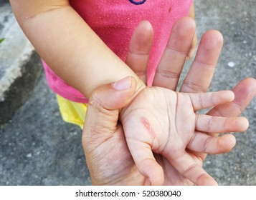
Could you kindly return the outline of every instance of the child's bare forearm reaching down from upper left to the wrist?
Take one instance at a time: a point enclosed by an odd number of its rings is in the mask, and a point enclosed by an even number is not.
[[[42,59],[75,89],[93,89],[133,76],[137,90],[145,85],[115,56],[67,0],[11,0],[22,30]]]

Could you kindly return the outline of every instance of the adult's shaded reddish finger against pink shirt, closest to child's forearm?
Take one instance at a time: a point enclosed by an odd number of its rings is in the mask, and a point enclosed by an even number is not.
[[[126,64],[146,84],[146,69],[153,44],[153,27],[148,21],[141,21],[133,31]]]

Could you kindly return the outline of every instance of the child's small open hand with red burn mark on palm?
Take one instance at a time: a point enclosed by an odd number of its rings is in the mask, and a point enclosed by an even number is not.
[[[163,184],[166,178],[161,166],[173,166],[197,185],[217,184],[186,148],[207,154],[232,149],[235,144],[233,136],[227,135],[229,139],[225,138],[225,143],[219,144],[221,137],[210,137],[202,132],[245,131],[247,119],[214,117],[195,112],[233,99],[232,91],[183,94],[159,87],[143,89],[120,114],[125,139],[138,171],[154,185]],[[161,154],[169,164],[160,166],[158,163],[161,161],[156,162],[153,153]]]

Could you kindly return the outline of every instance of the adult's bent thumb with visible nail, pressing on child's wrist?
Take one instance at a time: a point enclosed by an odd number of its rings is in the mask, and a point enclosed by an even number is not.
[[[90,137],[96,143],[118,129],[120,109],[127,106],[136,91],[136,80],[128,76],[112,84],[99,86],[90,96],[83,139]]]

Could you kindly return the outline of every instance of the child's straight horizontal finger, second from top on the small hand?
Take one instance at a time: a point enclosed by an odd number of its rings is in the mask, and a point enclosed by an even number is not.
[[[222,117],[196,114],[196,131],[207,133],[243,132],[249,122],[245,117]]]

